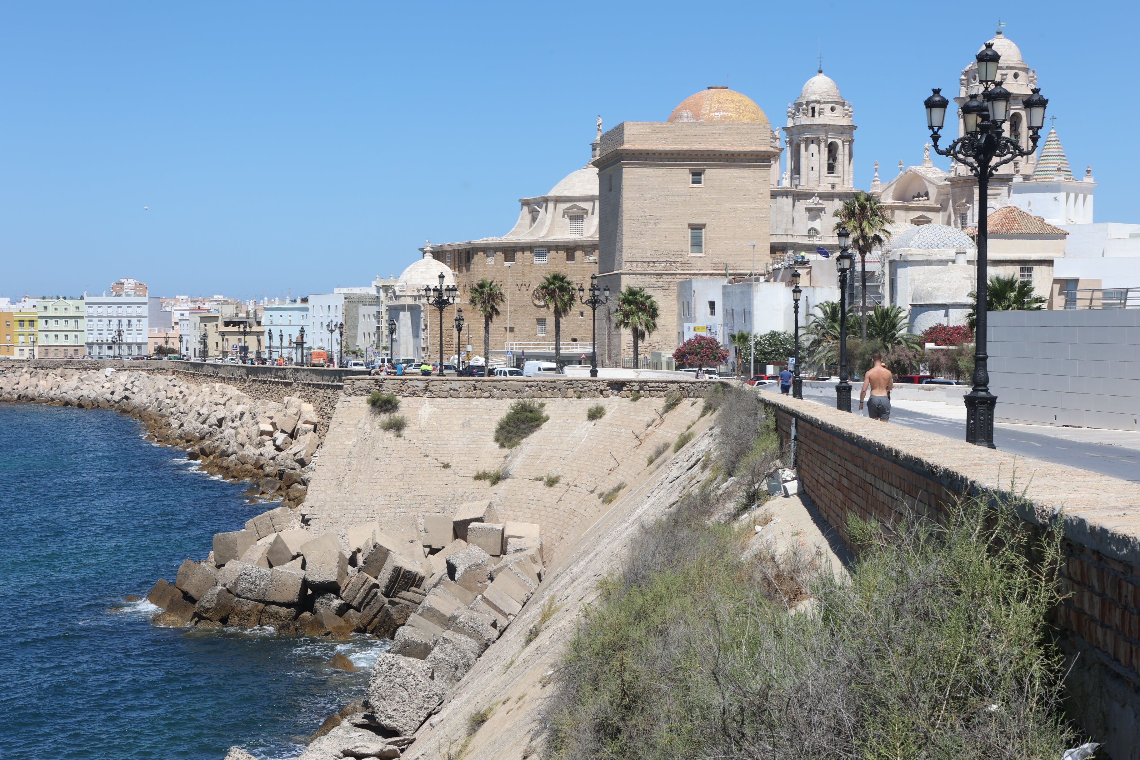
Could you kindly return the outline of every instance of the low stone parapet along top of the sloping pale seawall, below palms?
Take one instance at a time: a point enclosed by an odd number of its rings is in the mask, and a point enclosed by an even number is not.
[[[520,377],[350,377],[345,395],[368,395],[373,391],[400,398],[437,399],[628,399],[634,393],[659,399],[678,391],[686,399],[705,398],[707,381],[624,381],[601,378],[551,379]]]

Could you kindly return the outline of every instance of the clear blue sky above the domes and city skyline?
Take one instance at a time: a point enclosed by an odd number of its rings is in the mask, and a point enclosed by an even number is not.
[[[1138,16],[1109,2],[7,2],[0,295],[120,277],[163,295],[363,285],[425,238],[507,231],[519,197],[585,164],[597,115],[661,121],[727,82],[782,125],[817,43],[855,108],[865,188],[873,161],[888,180],[921,160],[922,99],[953,91],[999,17],[1074,172],[1092,164],[1097,221],[1140,222]]]

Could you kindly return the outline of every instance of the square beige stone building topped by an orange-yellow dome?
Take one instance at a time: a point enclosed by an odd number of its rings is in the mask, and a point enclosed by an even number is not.
[[[600,361],[620,366],[632,352],[613,320],[625,286],[644,287],[660,308],[642,350],[671,353],[679,280],[763,268],[779,156],[764,112],[725,87],[686,98],[666,122],[622,122],[602,136],[597,279],[611,295],[597,311]]]

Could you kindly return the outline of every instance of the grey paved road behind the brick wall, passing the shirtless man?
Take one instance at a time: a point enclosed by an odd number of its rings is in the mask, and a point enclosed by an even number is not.
[[[762,392],[779,391],[764,389]],[[852,409],[855,414],[865,415],[865,411],[858,411],[857,386],[853,395]],[[826,397],[811,398],[805,394],[805,399],[824,406],[834,404],[834,400]],[[966,436],[966,407],[929,401],[895,401],[887,424],[917,427],[961,441]],[[1140,433],[999,423],[994,426],[994,443],[1010,453],[1140,482]]]

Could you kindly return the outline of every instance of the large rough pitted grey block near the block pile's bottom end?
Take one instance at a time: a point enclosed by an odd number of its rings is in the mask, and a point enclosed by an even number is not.
[[[422,660],[384,652],[376,656],[368,680],[368,704],[376,722],[398,736],[412,736],[447,695]]]

